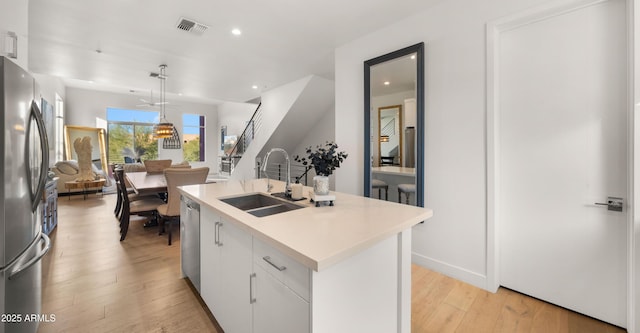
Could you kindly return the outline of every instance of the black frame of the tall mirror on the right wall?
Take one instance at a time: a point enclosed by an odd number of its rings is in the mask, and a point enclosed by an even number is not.
[[[416,205],[424,207],[424,43],[364,62],[364,196],[371,196],[371,67],[416,53]]]

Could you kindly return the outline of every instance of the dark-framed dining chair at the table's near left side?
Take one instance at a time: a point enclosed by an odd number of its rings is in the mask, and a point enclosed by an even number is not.
[[[115,173],[117,174],[116,177],[118,179],[124,179],[123,169],[117,169]],[[156,209],[158,206],[163,205],[164,201],[158,197],[144,197],[131,201],[129,200],[127,186],[125,183],[120,181],[117,186],[120,189],[119,193],[122,200],[122,212],[120,214],[120,241],[123,241],[125,237],[127,237],[127,232],[129,231],[129,218],[131,215],[151,215],[157,222],[158,215]]]

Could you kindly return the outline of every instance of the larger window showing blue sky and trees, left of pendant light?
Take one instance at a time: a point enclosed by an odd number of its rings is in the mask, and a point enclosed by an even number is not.
[[[109,163],[157,159],[153,125],[158,117],[157,111],[107,108]]]

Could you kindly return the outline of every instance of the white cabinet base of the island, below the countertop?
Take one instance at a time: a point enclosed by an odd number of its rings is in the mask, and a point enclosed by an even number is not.
[[[201,296],[225,332],[410,332],[410,229],[317,272],[200,208]]]

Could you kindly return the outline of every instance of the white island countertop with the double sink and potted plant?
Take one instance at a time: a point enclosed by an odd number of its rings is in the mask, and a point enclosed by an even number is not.
[[[278,248],[303,265],[321,271],[392,235],[430,218],[429,208],[401,205],[356,195],[335,194],[334,206],[307,206],[285,213],[256,217],[218,199],[249,193],[266,193],[266,179],[228,181],[179,187],[181,193],[205,205],[235,224]],[[271,181],[272,192],[282,192],[284,183]],[[304,188],[309,197],[310,187]],[[202,221],[201,221],[202,223]]]

